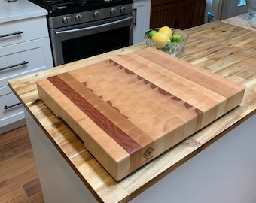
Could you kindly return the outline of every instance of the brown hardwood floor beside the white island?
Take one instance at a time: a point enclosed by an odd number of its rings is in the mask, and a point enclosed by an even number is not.
[[[44,202],[26,126],[0,135],[0,202]]]

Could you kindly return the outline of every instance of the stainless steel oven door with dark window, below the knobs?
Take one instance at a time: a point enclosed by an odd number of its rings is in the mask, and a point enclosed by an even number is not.
[[[133,44],[133,14],[50,30],[54,65]]]

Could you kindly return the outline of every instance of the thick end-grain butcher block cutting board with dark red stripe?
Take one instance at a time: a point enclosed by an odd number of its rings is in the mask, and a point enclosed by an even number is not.
[[[41,100],[115,180],[235,108],[245,92],[152,47],[38,80],[37,86]]]

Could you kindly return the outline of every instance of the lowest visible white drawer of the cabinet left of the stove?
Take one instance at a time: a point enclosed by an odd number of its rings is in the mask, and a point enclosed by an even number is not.
[[[8,86],[0,88],[0,127],[24,118],[23,106]]]

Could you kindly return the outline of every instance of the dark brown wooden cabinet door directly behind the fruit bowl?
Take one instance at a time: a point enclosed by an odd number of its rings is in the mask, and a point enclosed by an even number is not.
[[[178,4],[158,5],[151,7],[151,28],[162,26],[177,27]]]

